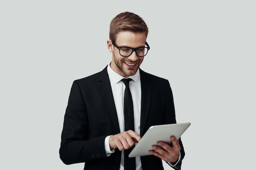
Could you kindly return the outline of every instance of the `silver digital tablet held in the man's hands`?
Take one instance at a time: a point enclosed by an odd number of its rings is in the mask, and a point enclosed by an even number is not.
[[[135,144],[129,157],[151,155],[148,151],[153,150],[153,145],[157,145],[159,141],[171,144],[171,136],[175,136],[176,139],[179,139],[190,124],[191,123],[188,122],[151,126],[141,140]]]

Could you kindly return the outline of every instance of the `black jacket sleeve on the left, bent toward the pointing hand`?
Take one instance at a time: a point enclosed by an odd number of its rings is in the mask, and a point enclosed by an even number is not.
[[[107,135],[88,137],[86,105],[77,81],[74,81],[61,134],[60,158],[65,164],[81,163],[106,157],[104,139]]]

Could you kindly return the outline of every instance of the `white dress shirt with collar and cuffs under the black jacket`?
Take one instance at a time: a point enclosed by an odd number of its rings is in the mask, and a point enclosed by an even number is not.
[[[110,80],[110,85],[115,101],[115,106],[117,110],[117,118],[119,122],[120,132],[124,132],[124,91],[125,91],[125,84],[121,80],[125,77],[117,74],[110,68],[110,63],[108,64],[108,76]],[[140,82],[140,74],[139,70],[137,70],[136,74],[133,76],[129,76],[132,81],[130,81],[130,92],[132,94],[132,104],[133,104],[133,112],[134,112],[134,129],[135,132],[140,135],[140,113],[141,113],[141,82]],[[110,150],[108,139],[110,136],[106,137],[105,139],[105,149],[106,155],[110,156],[115,150]],[[136,170],[142,170],[141,167],[141,159],[140,157],[135,157],[136,161]],[[180,161],[180,158],[179,158]],[[171,166],[171,163],[169,163]],[[121,164],[120,170],[124,170],[124,150],[121,153]]]

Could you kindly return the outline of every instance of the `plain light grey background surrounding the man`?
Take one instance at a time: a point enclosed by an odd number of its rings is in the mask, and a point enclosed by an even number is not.
[[[0,169],[83,169],[58,155],[70,88],[111,60],[109,24],[124,11],[149,27],[141,68],[170,81],[177,122],[191,122],[182,169],[252,169],[253,0],[2,0]]]

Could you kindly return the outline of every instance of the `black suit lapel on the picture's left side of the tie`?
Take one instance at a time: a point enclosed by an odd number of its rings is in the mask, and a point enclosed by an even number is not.
[[[101,97],[108,111],[110,119],[112,120],[117,132],[120,133],[119,123],[117,118],[117,110],[115,107],[110,80],[108,77],[107,67],[100,72],[98,81],[99,81],[99,86],[98,86],[99,91],[101,93]]]

